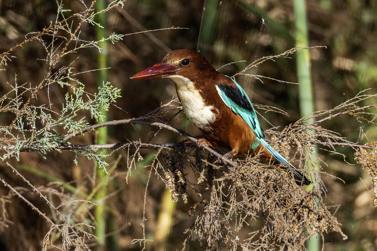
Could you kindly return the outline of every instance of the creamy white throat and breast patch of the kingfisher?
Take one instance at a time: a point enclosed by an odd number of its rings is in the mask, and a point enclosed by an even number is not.
[[[216,114],[212,105],[206,105],[194,83],[190,79],[175,75],[169,76],[177,87],[177,94],[181,100],[183,111],[186,116],[199,128],[209,129],[207,125],[215,122]]]

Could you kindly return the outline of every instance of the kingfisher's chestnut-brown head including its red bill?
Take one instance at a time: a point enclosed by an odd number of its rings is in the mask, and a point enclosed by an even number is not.
[[[203,72],[215,70],[201,55],[194,50],[173,50],[162,62],[155,64],[133,75],[132,79],[173,78],[182,76],[190,80],[200,76]]]

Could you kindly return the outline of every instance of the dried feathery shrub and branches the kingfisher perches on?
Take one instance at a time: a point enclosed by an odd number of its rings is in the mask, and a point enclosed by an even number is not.
[[[101,149],[115,149],[111,153],[113,155],[120,149],[123,151],[126,149],[127,179],[131,170],[136,169],[138,162],[143,160],[141,151],[156,149],[151,163],[143,166],[148,170],[143,220],[140,222],[143,238],[133,240],[133,243],[143,245],[144,249],[149,241],[146,238],[148,224],[146,207],[149,206],[147,192],[152,180],[163,182],[172,192],[172,201],[182,201],[187,204],[187,213],[194,218],[192,226],[185,231],[187,237],[183,249],[190,249],[190,241],[193,240],[202,250],[219,250],[223,247],[231,250],[305,250],[305,240],[316,233],[323,236],[329,231],[335,231],[346,239],[334,216],[334,211],[331,211],[333,205],[326,205],[323,202],[322,197],[326,187],[321,181],[320,174],[326,175],[326,173],[316,172],[312,168],[314,160],[311,156],[314,154],[314,148],[333,154],[340,154],[336,146],[348,146],[354,149],[357,163],[372,176],[374,206],[377,206],[375,142],[360,145],[323,126],[328,120],[336,117],[351,116],[360,124],[360,136],[364,137],[362,126],[364,123],[376,126],[377,105],[362,105],[364,101],[377,96],[377,94],[367,94],[368,90],[360,92],[354,98],[331,110],[309,114],[282,131],[276,131],[276,128],[266,131],[267,134],[272,135],[271,145],[279,152],[288,155],[296,151],[294,158],[298,162],[296,166],[316,181],[309,192],[297,186],[290,173],[269,163],[261,163],[257,156],[234,158],[227,160],[226,166],[220,166],[218,157],[221,153],[217,149],[207,146],[204,146],[205,152],[202,152],[202,149],[195,149],[196,138],[172,126],[181,115],[181,107],[176,99],[137,119],[114,120],[89,126],[89,119],[83,114],[91,118],[101,118],[100,111],[109,109],[110,104],[115,103],[116,98],[120,97],[120,90],[107,82],[97,93],[89,93],[84,89],[87,83],[80,82],[77,78],[83,72],[73,73],[74,67],[71,65],[78,58],[64,64],[61,61],[78,50],[86,48],[100,50],[101,42],[107,40],[115,43],[124,37],[113,33],[99,41],[87,41],[81,38],[83,24],[100,26],[95,22],[95,15],[122,6],[124,1],[113,1],[100,12],[93,10],[94,2],[85,5],[80,1],[83,11],[70,17],[65,17],[64,13],[67,10],[58,3],[58,15],[51,26],[40,32],[29,33],[25,41],[0,54],[0,65],[3,67],[2,70],[6,71],[8,62],[15,58],[13,53],[16,49],[27,43],[37,42],[45,50],[46,56],[40,60],[47,69],[46,74],[35,85],[19,84],[15,75],[14,82],[8,83],[11,90],[0,98],[0,112],[14,116],[14,120],[9,125],[0,126],[0,151],[3,153],[0,159],[9,170],[27,184],[27,188],[13,187],[9,180],[0,178],[9,189],[9,193],[1,196],[0,199],[0,231],[6,231],[6,228],[12,224],[8,207],[14,198],[20,198],[49,224],[42,250],[51,247],[61,250],[71,248],[89,250],[89,243],[95,239],[91,233],[94,227],[91,210],[95,206],[90,200],[92,196],[82,200],[76,195],[69,195],[64,189],[58,191],[52,188],[52,185],[35,187],[19,172],[17,166],[10,163],[14,159],[20,160],[20,152],[31,151],[45,157],[48,152],[61,152],[66,149],[74,152],[76,164],[82,156],[86,156],[105,168],[108,165],[107,155],[99,154]],[[277,56],[262,58],[248,65],[239,74],[256,79],[266,78],[248,75],[245,71],[266,60],[285,57],[300,49],[308,48],[294,48]],[[91,71],[96,70],[100,69]],[[49,96],[53,87],[60,87],[61,90],[66,91],[63,103],[57,105]],[[36,101],[38,95],[43,93],[41,90],[46,90],[44,94],[48,95],[46,99],[48,102],[43,104]],[[285,113],[271,106],[256,107],[260,110]],[[308,123],[311,118],[316,121]],[[121,124],[143,124],[156,126],[158,129],[145,143],[140,137],[138,141],[126,139],[126,143],[106,145],[72,143],[76,136],[88,131]],[[162,131],[171,131],[186,139],[180,143],[152,143]],[[318,156],[316,159],[320,161]],[[116,177],[113,175],[113,170],[119,160],[120,158],[110,168],[106,181]],[[185,169],[186,166],[191,168]],[[187,175],[188,172],[193,175]],[[43,204],[48,205],[49,211],[34,205],[37,202],[31,202],[25,193],[40,196]],[[190,199],[190,193],[197,195],[199,202]],[[60,241],[58,241],[59,236]]]

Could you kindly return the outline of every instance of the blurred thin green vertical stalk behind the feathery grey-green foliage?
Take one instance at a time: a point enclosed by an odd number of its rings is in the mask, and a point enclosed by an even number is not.
[[[106,8],[105,0],[97,0],[95,3],[95,10],[96,12],[99,12]],[[106,13],[100,13],[96,16],[97,23],[100,23],[101,27],[96,27],[96,39],[101,40],[102,38],[106,37]],[[107,42],[103,42],[101,47],[101,53],[98,53],[97,56],[97,66],[99,69],[101,68],[107,68]],[[97,87],[101,87],[106,81],[106,70],[100,70],[97,71],[98,78],[97,78]],[[101,111],[102,115],[104,117],[107,117],[106,111]],[[98,119],[97,123],[104,122],[102,119]],[[102,127],[97,130],[97,144],[106,144],[107,139],[107,127]],[[103,154],[107,154],[107,151],[103,151]],[[96,171],[97,171],[97,177],[98,177],[98,184],[103,184],[97,191],[97,194],[95,196],[95,202],[97,204],[94,218],[96,221],[96,228],[95,228],[95,236],[97,237],[97,243],[99,245],[98,250],[103,249],[105,245],[105,234],[106,234],[106,210],[105,210],[105,201],[107,194],[107,186],[106,182],[103,182],[103,179],[106,179],[106,173],[103,169],[99,168],[98,165],[96,165]]]

